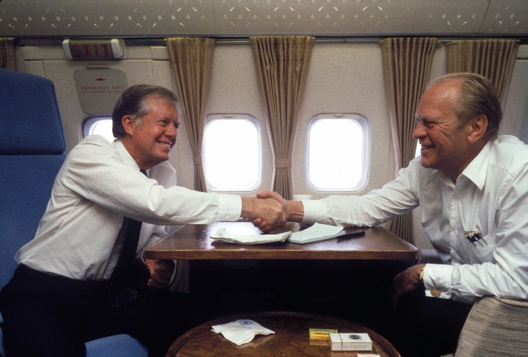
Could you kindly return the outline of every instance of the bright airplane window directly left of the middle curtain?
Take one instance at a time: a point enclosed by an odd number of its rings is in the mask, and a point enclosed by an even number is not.
[[[252,191],[261,183],[258,121],[245,114],[207,116],[202,149],[210,191]]]

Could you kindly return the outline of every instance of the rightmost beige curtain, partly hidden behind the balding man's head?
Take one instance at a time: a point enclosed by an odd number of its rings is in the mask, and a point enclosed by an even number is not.
[[[472,72],[490,79],[500,100],[519,45],[515,40],[459,40],[445,45],[447,73]]]

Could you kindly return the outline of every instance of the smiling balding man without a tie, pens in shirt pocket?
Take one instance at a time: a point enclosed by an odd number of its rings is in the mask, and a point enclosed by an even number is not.
[[[259,194],[303,224],[371,226],[420,206],[443,264],[413,265],[390,287],[401,319],[386,337],[404,357],[454,352],[480,296],[528,299],[528,145],[497,136],[502,111],[492,84],[477,74],[440,77],[415,118],[421,156],[379,190],[302,202]]]

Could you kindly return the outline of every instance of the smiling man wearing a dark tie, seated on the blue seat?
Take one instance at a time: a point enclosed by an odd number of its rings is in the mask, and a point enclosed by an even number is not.
[[[88,136],[68,154],[35,238],[17,252],[19,267],[0,293],[8,357],[85,356],[84,342],[119,333],[145,343],[149,356],[165,356],[197,312],[166,289],[174,262],[143,262],[143,249],[163,237],[167,225],[256,216],[281,224],[282,207],[271,198],[176,186],[167,160],[178,127],[174,93],[132,86],[113,112],[117,140]],[[131,276],[130,287],[139,293],[115,310],[108,281],[124,245],[118,238],[124,217],[143,223],[135,261],[145,279],[138,287]]]

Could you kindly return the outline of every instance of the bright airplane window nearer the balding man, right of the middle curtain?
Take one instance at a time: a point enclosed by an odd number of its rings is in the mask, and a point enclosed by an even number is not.
[[[367,183],[369,125],[358,114],[320,114],[308,127],[308,184],[315,191],[358,191]]]

